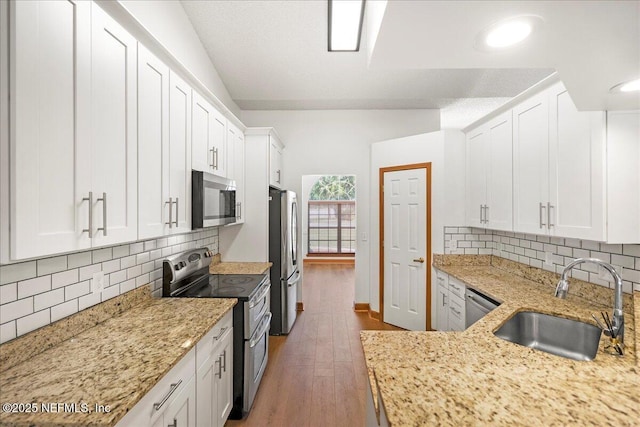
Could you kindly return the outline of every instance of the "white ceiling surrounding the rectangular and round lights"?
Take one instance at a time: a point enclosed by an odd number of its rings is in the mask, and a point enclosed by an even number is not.
[[[325,0],[181,2],[244,110],[441,108],[468,124],[556,69],[582,109],[615,106],[608,89],[640,75],[639,1],[369,0],[357,53],[327,52]],[[523,13],[544,24],[521,48],[473,48]]]

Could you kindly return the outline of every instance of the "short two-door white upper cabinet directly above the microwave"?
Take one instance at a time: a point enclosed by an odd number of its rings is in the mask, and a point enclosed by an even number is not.
[[[192,106],[192,167],[226,177],[227,120],[195,91]]]

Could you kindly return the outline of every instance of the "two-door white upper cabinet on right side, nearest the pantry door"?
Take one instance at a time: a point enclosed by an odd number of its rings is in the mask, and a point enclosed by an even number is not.
[[[467,134],[467,224],[513,229],[511,111]]]

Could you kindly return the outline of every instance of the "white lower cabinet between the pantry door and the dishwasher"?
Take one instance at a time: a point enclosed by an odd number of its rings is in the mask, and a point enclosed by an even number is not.
[[[464,331],[466,287],[442,271],[436,271],[436,281],[438,330]]]

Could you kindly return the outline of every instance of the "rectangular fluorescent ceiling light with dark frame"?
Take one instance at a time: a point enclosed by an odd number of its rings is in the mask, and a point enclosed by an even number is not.
[[[360,50],[365,0],[329,0],[329,52]]]

